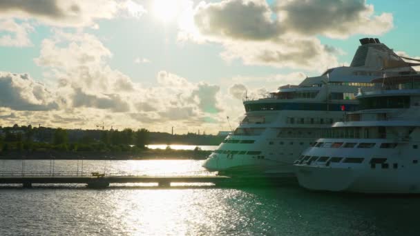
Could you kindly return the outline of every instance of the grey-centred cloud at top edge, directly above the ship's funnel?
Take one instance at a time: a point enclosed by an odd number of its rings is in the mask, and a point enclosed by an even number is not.
[[[345,39],[350,35],[382,35],[394,27],[391,13],[374,15],[365,0],[278,1],[280,23],[300,35]]]

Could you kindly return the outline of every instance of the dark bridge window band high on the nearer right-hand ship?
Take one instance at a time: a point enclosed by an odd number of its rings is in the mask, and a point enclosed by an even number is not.
[[[410,96],[365,97],[359,101],[360,110],[410,107]]]

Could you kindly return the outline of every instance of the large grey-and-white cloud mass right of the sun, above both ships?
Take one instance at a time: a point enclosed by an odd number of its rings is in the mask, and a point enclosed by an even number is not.
[[[364,0],[290,0],[274,7],[265,0],[202,1],[191,14],[188,26],[180,26],[179,40],[220,43],[226,61],[318,71],[338,66],[341,54],[318,35],[381,35],[393,27],[392,14],[376,15]]]

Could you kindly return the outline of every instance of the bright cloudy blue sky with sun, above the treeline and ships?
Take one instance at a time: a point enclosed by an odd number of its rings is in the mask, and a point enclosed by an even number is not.
[[[0,95],[0,125],[216,133],[240,120],[245,90],[348,65],[362,37],[420,55],[419,1],[43,4],[0,3],[0,86],[12,91]]]

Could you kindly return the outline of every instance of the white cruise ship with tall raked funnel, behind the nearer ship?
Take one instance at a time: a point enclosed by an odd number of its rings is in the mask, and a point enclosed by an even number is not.
[[[204,168],[223,175],[294,175],[293,162],[322,137],[345,112],[355,110],[358,88],[368,91],[376,77],[412,73],[379,39],[360,39],[350,66],[307,77],[299,85],[281,86],[268,97],[245,99],[245,118],[222,141]]]

